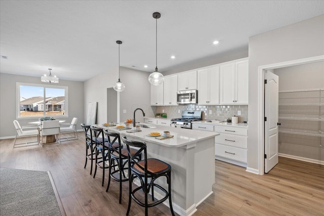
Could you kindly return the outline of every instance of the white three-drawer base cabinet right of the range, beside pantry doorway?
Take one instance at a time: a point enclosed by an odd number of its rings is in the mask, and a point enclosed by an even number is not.
[[[235,126],[215,126],[216,159],[247,167],[248,162],[248,128]]]

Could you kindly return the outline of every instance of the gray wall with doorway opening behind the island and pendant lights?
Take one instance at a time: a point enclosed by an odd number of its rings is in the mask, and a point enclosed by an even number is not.
[[[85,119],[88,111],[89,102],[98,102],[97,123],[109,121],[107,119],[107,88],[113,87],[118,80],[118,67],[115,68],[113,74],[105,73],[95,76],[85,81]],[[120,121],[127,118],[133,118],[133,112],[136,108],[142,108],[146,116],[153,116],[150,107],[150,83],[148,82],[149,73],[120,67],[120,81],[124,82],[126,88],[120,92]],[[117,103],[111,101],[111,103]],[[126,110],[126,113],[123,113]],[[143,121],[142,114],[136,114],[136,121]]]

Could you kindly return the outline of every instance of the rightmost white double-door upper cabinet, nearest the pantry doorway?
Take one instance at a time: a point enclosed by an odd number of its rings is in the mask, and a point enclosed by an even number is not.
[[[249,103],[249,61],[220,65],[220,103]]]

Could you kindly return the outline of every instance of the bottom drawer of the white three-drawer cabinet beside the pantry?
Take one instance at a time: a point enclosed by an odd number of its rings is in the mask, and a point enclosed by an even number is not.
[[[248,162],[248,150],[215,144],[215,155],[241,162]]]

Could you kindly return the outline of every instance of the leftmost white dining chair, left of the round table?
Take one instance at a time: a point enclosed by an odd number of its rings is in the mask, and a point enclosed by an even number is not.
[[[23,147],[23,146],[33,146],[39,144],[39,127],[38,126],[20,126],[17,120],[14,120],[14,125],[16,127],[16,137],[14,141],[14,148],[15,147]],[[25,142],[25,143],[17,143],[17,138],[21,137],[32,137],[36,136],[36,142]],[[30,144],[30,145],[29,145]]]

